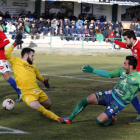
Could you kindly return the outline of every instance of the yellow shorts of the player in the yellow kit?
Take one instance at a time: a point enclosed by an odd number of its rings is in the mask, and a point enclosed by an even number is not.
[[[22,100],[29,106],[30,102],[38,101],[39,103],[48,99],[48,96],[44,93],[43,90],[37,89],[28,89],[21,90]]]

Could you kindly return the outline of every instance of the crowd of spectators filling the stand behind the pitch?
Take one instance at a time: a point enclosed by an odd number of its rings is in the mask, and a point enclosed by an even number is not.
[[[136,36],[140,36],[140,20],[137,23],[132,22],[130,29],[136,33]],[[116,21],[106,21],[102,16],[99,20],[95,20],[93,15],[87,16],[81,14],[77,18],[73,14],[70,17],[64,17],[63,14],[57,16],[42,13],[38,20],[36,12],[33,14],[28,11],[27,14],[22,11],[18,16],[10,16],[7,11],[5,15],[0,11],[0,30],[12,35],[12,39],[15,38],[15,34],[22,33],[23,38],[26,34],[31,35],[31,39],[38,39],[39,34],[51,36],[62,36],[61,40],[86,40],[96,41],[97,36],[104,38],[115,38],[116,40],[122,40],[122,34],[124,32],[122,23]],[[35,38],[32,35],[37,35]]]

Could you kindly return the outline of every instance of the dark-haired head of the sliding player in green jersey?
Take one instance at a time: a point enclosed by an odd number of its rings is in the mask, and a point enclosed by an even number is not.
[[[131,73],[137,67],[137,59],[134,56],[126,56],[126,60],[124,61],[123,68],[126,73]]]

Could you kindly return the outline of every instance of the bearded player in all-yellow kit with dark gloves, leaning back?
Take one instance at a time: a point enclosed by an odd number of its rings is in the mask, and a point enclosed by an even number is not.
[[[57,118],[59,117],[49,111],[51,102],[48,96],[37,85],[36,78],[43,82],[46,87],[49,87],[48,79],[43,79],[33,63],[35,51],[31,48],[24,48],[21,52],[22,58],[14,57],[11,54],[14,47],[23,43],[21,39],[22,35],[18,34],[15,42],[5,51],[5,56],[13,67],[15,81],[17,88],[21,90],[22,100],[32,109],[36,109],[44,116],[58,121]]]

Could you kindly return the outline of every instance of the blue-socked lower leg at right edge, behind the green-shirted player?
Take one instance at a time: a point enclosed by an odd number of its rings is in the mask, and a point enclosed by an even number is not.
[[[137,96],[133,99],[132,105],[134,106],[134,108],[135,108],[135,109],[137,110],[137,112],[138,112],[138,116],[137,116],[137,118],[134,120],[134,122],[138,122],[138,121],[140,121],[140,104],[139,104],[139,99],[138,99]]]

